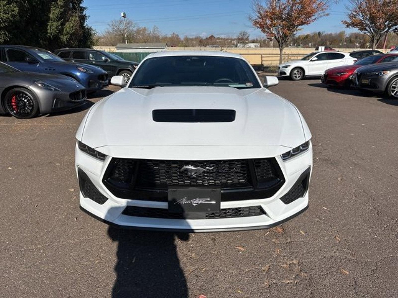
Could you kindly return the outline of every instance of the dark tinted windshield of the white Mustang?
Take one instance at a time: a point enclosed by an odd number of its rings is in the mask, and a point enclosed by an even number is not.
[[[261,88],[247,62],[215,56],[164,56],[145,60],[129,87],[156,86]]]

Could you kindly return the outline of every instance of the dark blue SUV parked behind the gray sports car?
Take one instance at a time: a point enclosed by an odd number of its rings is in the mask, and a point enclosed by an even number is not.
[[[88,93],[108,85],[108,74],[98,66],[66,62],[53,53],[32,46],[0,46],[0,61],[23,72],[63,74],[82,84]]]

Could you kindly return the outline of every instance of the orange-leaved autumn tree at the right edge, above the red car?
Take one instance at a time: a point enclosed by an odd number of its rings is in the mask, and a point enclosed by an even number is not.
[[[347,28],[357,28],[371,39],[374,50],[388,32],[398,31],[398,0],[350,0]]]

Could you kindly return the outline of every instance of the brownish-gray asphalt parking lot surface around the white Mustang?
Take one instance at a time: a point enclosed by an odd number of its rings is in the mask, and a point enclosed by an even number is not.
[[[314,172],[309,209],[270,230],[109,228],[79,209],[86,110],[0,117],[0,297],[397,297],[398,101],[319,79],[271,91],[306,119]]]

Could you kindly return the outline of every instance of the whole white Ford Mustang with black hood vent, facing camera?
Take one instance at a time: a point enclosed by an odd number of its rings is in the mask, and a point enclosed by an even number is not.
[[[123,77],[112,77],[123,84]],[[239,55],[161,52],[76,133],[82,210],[108,224],[269,228],[308,207],[311,133]]]

